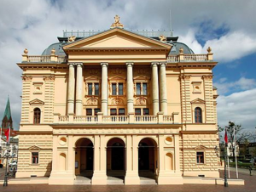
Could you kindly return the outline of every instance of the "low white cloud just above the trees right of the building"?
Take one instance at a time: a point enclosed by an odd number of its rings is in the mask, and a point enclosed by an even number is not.
[[[229,121],[235,121],[244,128],[256,127],[256,88],[228,96],[219,96],[218,125],[224,127]]]

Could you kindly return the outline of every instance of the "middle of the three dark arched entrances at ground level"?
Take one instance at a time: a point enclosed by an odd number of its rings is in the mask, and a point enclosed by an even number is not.
[[[107,144],[107,175],[125,178],[125,142],[111,138]]]

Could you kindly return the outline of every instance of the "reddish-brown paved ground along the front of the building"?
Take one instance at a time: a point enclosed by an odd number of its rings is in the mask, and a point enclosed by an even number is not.
[[[231,178],[236,178],[236,172],[230,172]],[[223,172],[221,172],[221,176],[223,176]],[[17,192],[25,192],[25,191],[35,191],[35,192],[59,192],[59,191],[92,191],[92,192],[216,192],[216,191],[234,191],[234,192],[255,192],[256,191],[256,176],[249,176],[246,172],[241,172],[239,174],[239,178],[245,179],[245,186],[239,185],[230,185],[228,188],[225,188],[223,185],[212,185],[212,184],[183,184],[183,185],[104,185],[104,186],[91,186],[91,185],[48,185],[48,184],[13,184],[8,187],[3,188],[0,186],[0,191],[17,191]]]

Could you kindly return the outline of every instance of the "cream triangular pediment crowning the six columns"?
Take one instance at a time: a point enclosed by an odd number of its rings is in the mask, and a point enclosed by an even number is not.
[[[172,45],[152,38],[143,37],[131,31],[114,28],[98,33],[95,36],[85,37],[75,42],[70,42],[63,49],[76,48],[167,48]]]

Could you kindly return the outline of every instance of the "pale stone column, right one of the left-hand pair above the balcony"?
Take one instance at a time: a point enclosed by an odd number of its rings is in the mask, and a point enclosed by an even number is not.
[[[76,116],[83,113],[83,63],[77,64],[77,87],[76,87]]]

